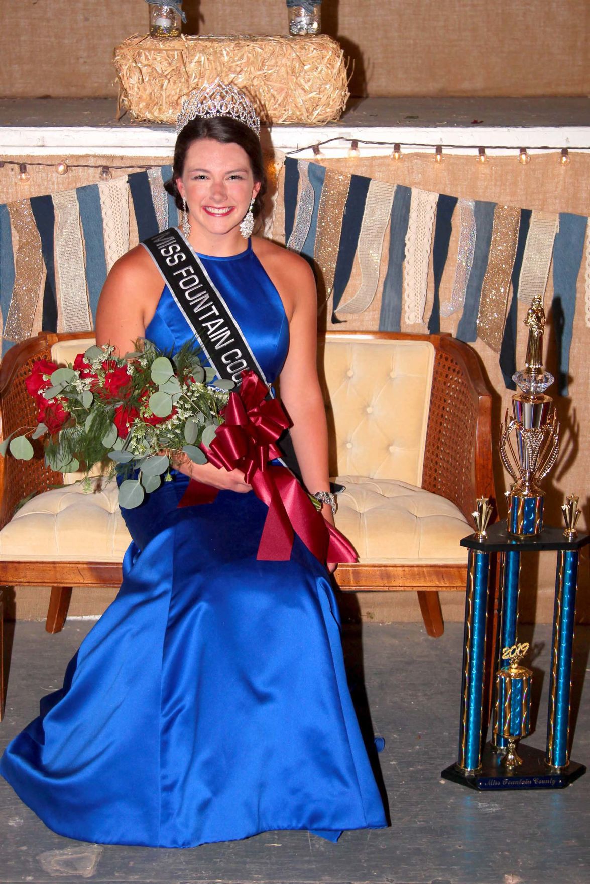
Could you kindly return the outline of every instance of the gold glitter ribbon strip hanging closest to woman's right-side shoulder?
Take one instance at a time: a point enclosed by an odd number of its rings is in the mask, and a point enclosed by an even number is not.
[[[318,210],[318,230],[313,256],[324,277],[326,300],[332,294],[342,230],[344,207],[349,196],[350,176],[326,169]]]

